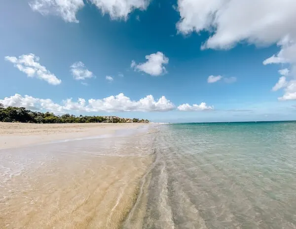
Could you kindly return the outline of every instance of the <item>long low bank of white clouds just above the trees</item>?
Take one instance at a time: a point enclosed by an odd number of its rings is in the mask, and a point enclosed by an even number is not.
[[[103,99],[89,99],[86,101],[79,98],[72,101],[72,98],[64,100],[61,104],[54,103],[51,99],[40,99],[25,95],[24,97],[15,94],[0,100],[5,107],[16,106],[25,107],[32,110],[50,111],[56,114],[70,111],[80,112],[166,112],[176,109],[175,105],[162,96],[155,100],[152,95],[148,95],[138,101],[120,93],[116,96],[109,96]]]

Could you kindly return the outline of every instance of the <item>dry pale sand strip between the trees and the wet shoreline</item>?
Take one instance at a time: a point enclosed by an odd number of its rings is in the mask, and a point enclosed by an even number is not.
[[[149,123],[16,123],[0,122],[0,150],[63,139],[112,134]]]

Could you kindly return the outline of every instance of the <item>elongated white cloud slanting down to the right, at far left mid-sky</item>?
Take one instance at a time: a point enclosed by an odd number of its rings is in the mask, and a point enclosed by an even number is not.
[[[32,53],[21,55],[18,58],[15,56],[5,56],[5,60],[13,63],[14,67],[27,74],[27,76],[43,79],[52,85],[60,84],[62,80],[50,73],[44,66],[40,65],[38,63],[39,59],[38,56],[35,56]]]

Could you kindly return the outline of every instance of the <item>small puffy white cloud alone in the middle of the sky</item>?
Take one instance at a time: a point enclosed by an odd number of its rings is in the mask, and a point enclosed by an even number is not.
[[[163,65],[169,63],[169,58],[167,58],[162,52],[152,53],[145,56],[145,58],[147,59],[147,62],[138,65],[132,60],[131,68],[135,71],[145,72],[151,76],[160,76],[167,72]]]

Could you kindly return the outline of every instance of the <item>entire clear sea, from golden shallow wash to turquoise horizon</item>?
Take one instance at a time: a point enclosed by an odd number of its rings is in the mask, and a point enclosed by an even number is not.
[[[0,228],[296,229],[292,121],[2,150],[0,174]]]

